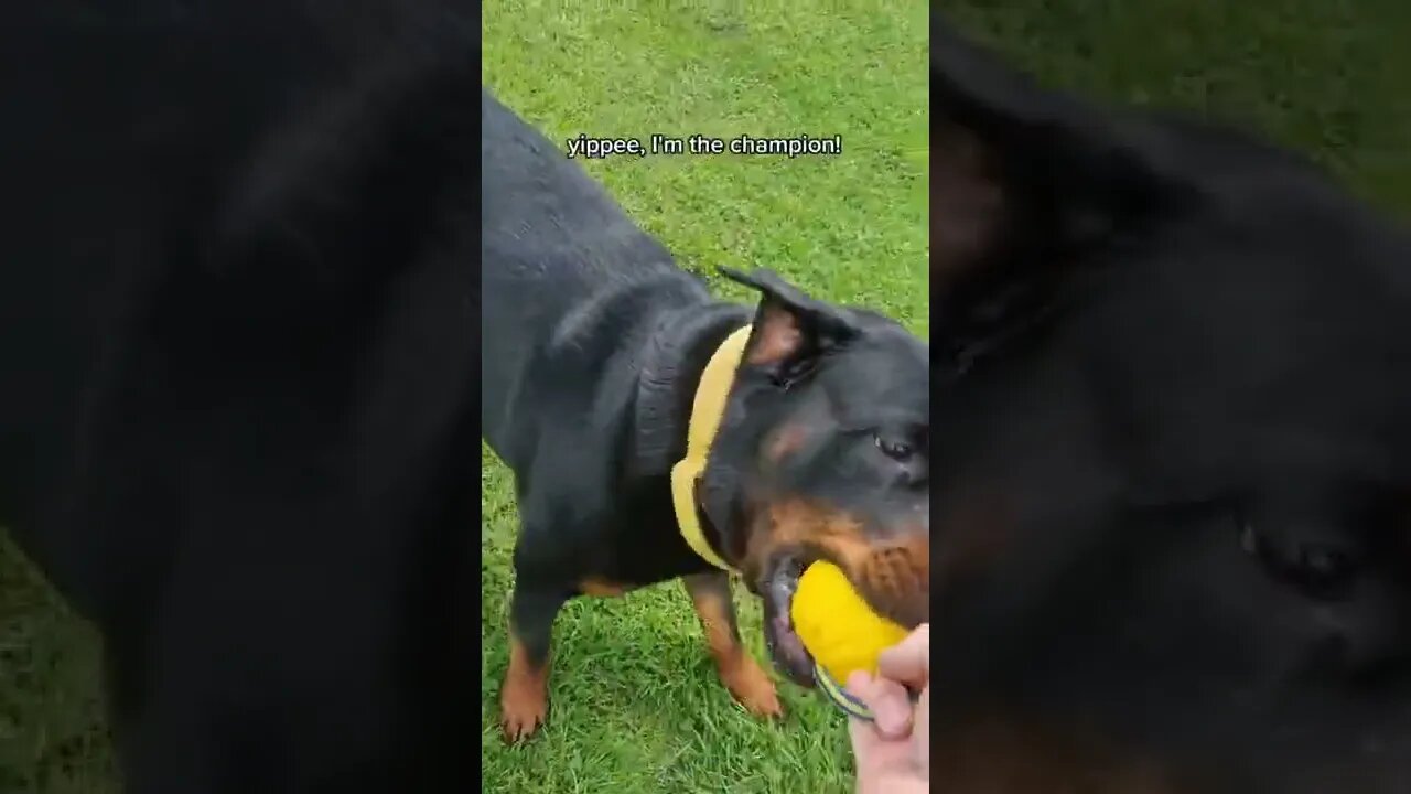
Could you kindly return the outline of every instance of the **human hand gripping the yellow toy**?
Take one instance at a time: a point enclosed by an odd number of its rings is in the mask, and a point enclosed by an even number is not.
[[[931,784],[931,626],[923,623],[882,651],[878,675],[854,672],[848,691],[872,711],[849,718],[858,794],[912,794]],[[913,705],[909,694],[920,691]]]

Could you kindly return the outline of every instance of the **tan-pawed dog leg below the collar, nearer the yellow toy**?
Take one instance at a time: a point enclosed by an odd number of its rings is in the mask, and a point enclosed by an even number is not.
[[[735,602],[729,596],[729,576],[724,572],[682,576],[686,592],[706,629],[706,644],[715,658],[715,670],[739,705],[758,716],[783,716],[775,682],[739,641]]]

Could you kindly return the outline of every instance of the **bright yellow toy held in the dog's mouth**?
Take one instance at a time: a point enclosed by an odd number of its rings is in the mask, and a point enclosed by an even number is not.
[[[906,639],[907,630],[872,612],[831,562],[814,562],[799,576],[789,613],[794,633],[813,657],[823,694],[852,716],[872,719],[862,701],[842,685],[855,670],[876,674],[878,657]]]

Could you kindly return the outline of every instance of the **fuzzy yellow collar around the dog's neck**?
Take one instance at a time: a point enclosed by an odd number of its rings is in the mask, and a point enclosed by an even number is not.
[[[672,466],[672,504],[676,506],[676,524],[682,528],[682,537],[696,554],[724,571],[734,568],[706,540],[706,530],[701,528],[700,513],[696,510],[696,480],[706,472],[710,445],[715,441],[720,420],[725,414],[725,398],[735,383],[739,359],[745,355],[749,329],[746,325],[727,336],[706,365],[686,425],[686,456]]]

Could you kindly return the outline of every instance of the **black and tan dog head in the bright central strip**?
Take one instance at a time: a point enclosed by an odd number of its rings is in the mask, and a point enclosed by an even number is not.
[[[717,550],[763,596],[780,670],[811,685],[789,619],[803,569],[840,565],[882,615],[927,620],[930,356],[880,315],[818,301],[769,271],[697,497]]]

